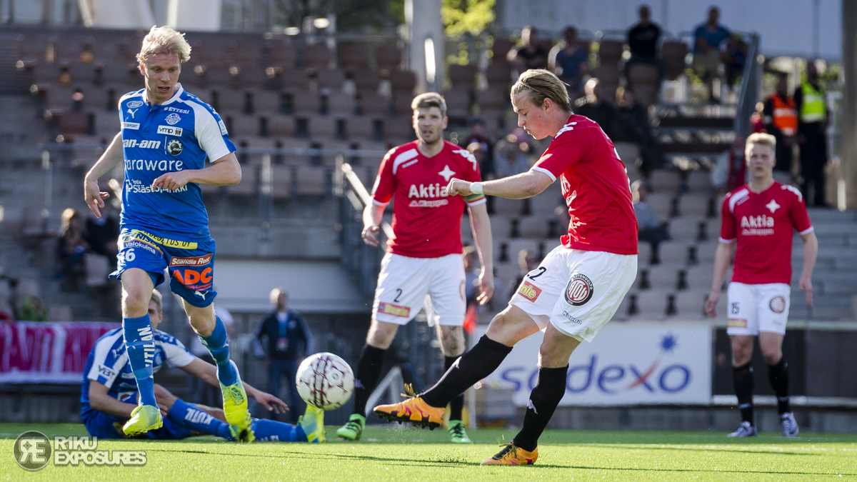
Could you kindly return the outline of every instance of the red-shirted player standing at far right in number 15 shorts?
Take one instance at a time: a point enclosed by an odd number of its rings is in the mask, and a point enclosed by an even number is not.
[[[750,358],[753,338],[758,336],[770,385],[776,393],[782,434],[797,437],[798,424],[788,401],[788,364],[782,358],[791,302],[792,233],[804,242],[800,291],[812,306],[812,268],[818,255],[818,239],[806,213],[800,190],[774,180],[776,138],[752,134],[746,141],[750,182],[723,198],[720,244],[714,257],[714,280],[705,302],[709,316],[717,316],[717,300],[732,262],[728,288],[726,333],[732,343],[732,377],[741,413],[741,425],[729,437],[755,437],[753,378]]]

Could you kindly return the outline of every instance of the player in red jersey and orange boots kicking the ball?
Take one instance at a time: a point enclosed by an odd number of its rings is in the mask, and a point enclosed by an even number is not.
[[[619,308],[637,274],[637,220],[625,165],[598,124],[572,113],[566,87],[548,70],[527,70],[512,86],[518,125],[553,141],[529,172],[485,183],[452,179],[450,195],[536,196],[560,179],[571,222],[561,245],[524,278],[506,310],[440,382],[409,400],[375,407],[382,418],[438,425],[446,403],[496,370],[512,346],[544,330],[536,388],[512,443],[482,464],[525,465],[566,393],[572,352]]]

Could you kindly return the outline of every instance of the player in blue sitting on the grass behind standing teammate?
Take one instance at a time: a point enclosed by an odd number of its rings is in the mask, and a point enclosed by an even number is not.
[[[219,385],[217,369],[196,358],[179,340],[158,330],[164,319],[161,294],[153,291],[148,303],[152,320],[155,354],[152,371],[158,372],[164,364],[177,366],[194,377]],[[84,368],[86,377],[81,389],[81,419],[93,437],[125,438],[123,425],[131,418],[140,392],[135,383],[134,370],[129,363],[128,350],[123,340],[123,328],[105,333],[89,352]],[[243,384],[244,389],[261,406],[274,413],[288,410],[279,398]],[[225,423],[224,412],[218,408],[187,403],[158,384],[154,385],[160,413],[165,417],[163,426],[141,433],[136,437],[170,440],[196,435],[214,435],[237,440],[240,429]],[[252,419],[258,441],[324,442],[324,411],[308,406],[298,425],[273,420]]]

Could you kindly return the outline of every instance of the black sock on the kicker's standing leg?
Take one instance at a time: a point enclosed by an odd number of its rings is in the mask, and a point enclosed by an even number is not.
[[[556,406],[560,405],[562,395],[566,395],[566,376],[568,365],[562,368],[542,368],[538,371],[538,384],[530,392],[527,411],[524,413],[524,426],[512,439],[517,447],[532,452],[538,445],[538,437],[554,416]]]

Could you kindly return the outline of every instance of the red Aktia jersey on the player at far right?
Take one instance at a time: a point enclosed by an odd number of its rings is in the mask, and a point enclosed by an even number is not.
[[[721,210],[720,242],[738,242],[732,280],[791,283],[792,230],[812,232],[800,190],[776,181],[758,194],[741,186],[723,198]]]

